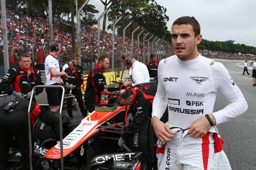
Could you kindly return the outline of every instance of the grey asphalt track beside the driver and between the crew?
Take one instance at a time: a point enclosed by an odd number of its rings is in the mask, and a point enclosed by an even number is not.
[[[234,82],[240,87],[248,103],[248,110],[244,114],[217,126],[224,140],[224,151],[232,169],[256,170],[256,87],[252,86],[251,75],[242,75],[244,61],[216,61],[225,65]],[[251,67],[249,67],[248,71],[251,74]],[[43,101],[47,102],[45,96],[45,94],[41,94],[37,99],[42,100],[44,98]],[[227,102],[223,96],[218,94],[214,110],[218,111],[226,105]],[[66,105],[63,106],[63,113],[67,114]],[[73,115],[73,121],[78,121],[82,118],[79,111],[73,111]]]

